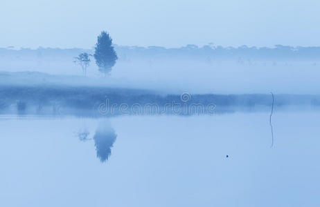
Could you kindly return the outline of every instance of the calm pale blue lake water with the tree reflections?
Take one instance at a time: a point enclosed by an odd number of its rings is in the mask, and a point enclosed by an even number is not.
[[[319,206],[320,112],[0,117],[0,206]]]

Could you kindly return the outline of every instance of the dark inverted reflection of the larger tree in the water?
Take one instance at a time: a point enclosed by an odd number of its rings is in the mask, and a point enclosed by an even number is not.
[[[97,157],[101,162],[106,161],[111,155],[111,148],[116,141],[116,132],[109,124],[101,124],[94,135]]]

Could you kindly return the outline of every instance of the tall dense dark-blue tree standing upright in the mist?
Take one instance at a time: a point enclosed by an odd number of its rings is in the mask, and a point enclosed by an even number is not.
[[[109,74],[112,67],[116,63],[118,57],[116,56],[116,51],[112,46],[112,38],[105,31],[101,32],[98,36],[98,42],[96,43],[94,58],[96,59],[96,64],[99,67],[99,71],[103,72],[105,76]]]

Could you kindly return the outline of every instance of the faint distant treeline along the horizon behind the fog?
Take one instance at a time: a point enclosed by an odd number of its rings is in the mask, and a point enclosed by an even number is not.
[[[320,47],[291,47],[276,45],[274,48],[257,48],[240,46],[238,48],[222,47],[207,45],[198,47],[195,45],[187,45],[181,48],[163,48],[159,46],[150,46],[148,48],[139,46],[114,46],[118,54],[119,61],[130,59],[176,59],[190,58],[194,59],[256,59],[270,61],[318,61],[320,60]],[[78,55],[80,52],[88,52],[93,54],[93,50],[84,50],[80,48],[60,49],[60,48],[37,48],[32,50],[29,48],[21,48],[20,50],[12,50],[11,48],[0,48],[1,57],[33,57],[38,59],[49,58],[54,60],[63,57],[69,58]]]

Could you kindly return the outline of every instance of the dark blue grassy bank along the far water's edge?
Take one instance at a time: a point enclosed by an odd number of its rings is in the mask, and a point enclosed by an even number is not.
[[[75,86],[0,86],[0,114],[199,115],[263,111],[271,95],[161,95],[148,90]],[[317,95],[275,95],[275,109],[318,108]]]

